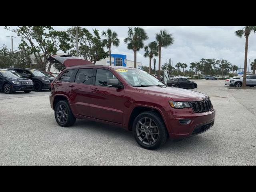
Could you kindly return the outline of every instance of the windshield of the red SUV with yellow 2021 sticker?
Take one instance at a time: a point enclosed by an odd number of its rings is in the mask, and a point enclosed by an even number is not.
[[[164,86],[162,82],[143,70],[116,69],[116,72],[118,72],[131,86],[134,87]]]

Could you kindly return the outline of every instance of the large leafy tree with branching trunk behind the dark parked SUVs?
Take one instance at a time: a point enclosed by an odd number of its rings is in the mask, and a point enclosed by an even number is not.
[[[46,70],[50,55],[56,54],[58,50],[66,53],[70,49],[67,33],[56,31],[52,26],[17,26],[15,29],[5,26],[5,29],[15,32],[21,38],[21,46],[34,54],[37,68],[41,70]]]

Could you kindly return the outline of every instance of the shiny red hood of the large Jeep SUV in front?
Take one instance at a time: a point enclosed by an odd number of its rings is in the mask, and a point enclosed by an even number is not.
[[[138,91],[144,92],[147,94],[159,95],[170,98],[172,101],[186,101],[186,102],[193,102],[193,101],[202,101],[203,96],[207,96],[206,94],[202,94],[196,91],[190,91],[181,88],[174,88],[174,87],[138,87]],[[208,96],[207,96],[208,97]]]

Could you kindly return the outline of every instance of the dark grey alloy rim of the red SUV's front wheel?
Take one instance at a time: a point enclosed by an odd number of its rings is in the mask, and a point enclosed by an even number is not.
[[[141,118],[136,125],[136,134],[142,143],[152,145],[158,140],[158,126],[151,118]]]

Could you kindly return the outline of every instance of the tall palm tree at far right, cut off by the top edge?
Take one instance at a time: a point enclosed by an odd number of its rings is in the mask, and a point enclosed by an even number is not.
[[[256,26],[245,26],[242,30],[235,32],[236,36],[242,38],[245,36],[245,50],[244,50],[244,77],[243,77],[243,87],[246,87],[246,68],[247,68],[247,52],[248,52],[248,38],[251,32],[256,33]]]

